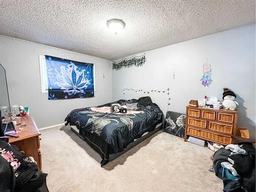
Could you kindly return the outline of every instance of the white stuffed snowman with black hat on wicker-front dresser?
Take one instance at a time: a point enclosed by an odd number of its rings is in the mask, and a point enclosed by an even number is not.
[[[224,109],[229,109],[229,110],[236,110],[238,102],[234,101],[234,98],[236,98],[236,94],[234,94],[234,92],[232,92],[231,90],[229,90],[228,88],[224,88],[223,89],[223,97],[222,99],[224,99],[222,101],[222,106]]]

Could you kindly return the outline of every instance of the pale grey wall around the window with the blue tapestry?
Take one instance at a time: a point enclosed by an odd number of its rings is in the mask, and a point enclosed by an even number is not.
[[[38,58],[38,55],[45,54],[94,63],[95,97],[48,100],[48,93],[41,93]],[[61,50],[0,36],[0,63],[6,69],[10,103],[29,106],[30,113],[38,127],[63,123],[71,110],[112,101],[112,63],[110,60],[89,55],[69,54]]]

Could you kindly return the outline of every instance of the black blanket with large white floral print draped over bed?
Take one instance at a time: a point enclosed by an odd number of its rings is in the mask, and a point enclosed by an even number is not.
[[[96,112],[91,108],[76,109],[68,114],[65,124],[76,125],[79,134],[100,154],[102,166],[109,162],[110,154],[122,152],[134,139],[153,131],[162,122],[163,113],[157,104],[144,106],[140,111],[136,114],[115,114]]]

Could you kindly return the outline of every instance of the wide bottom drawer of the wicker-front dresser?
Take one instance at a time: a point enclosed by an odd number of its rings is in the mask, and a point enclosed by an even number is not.
[[[210,141],[215,141],[223,144],[230,144],[232,143],[232,138],[231,136],[228,135],[223,135],[223,134],[218,134],[218,133],[213,133],[209,131],[204,131],[197,129],[195,127],[190,127],[187,126],[187,134],[193,135],[193,136],[198,136],[203,139],[208,139]]]

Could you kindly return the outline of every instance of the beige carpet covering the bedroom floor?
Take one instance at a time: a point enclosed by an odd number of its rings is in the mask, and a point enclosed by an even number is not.
[[[103,167],[66,126],[41,131],[41,154],[50,192],[222,191],[207,147],[161,131]]]

